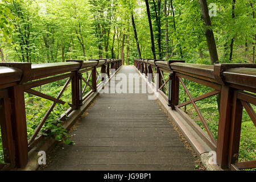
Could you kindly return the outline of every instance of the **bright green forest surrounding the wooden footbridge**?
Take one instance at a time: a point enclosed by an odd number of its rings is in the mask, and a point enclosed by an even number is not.
[[[133,65],[134,59],[254,64],[255,6],[253,0],[0,0],[1,61],[39,64],[118,58],[123,65]],[[37,89],[55,97],[64,82]],[[187,85],[194,97],[210,91],[193,82]],[[65,93],[64,101],[70,101],[69,96]],[[31,136],[51,102],[25,97]],[[189,100],[184,90],[180,97]],[[217,137],[216,97],[198,105]],[[44,126],[57,134],[56,140],[68,135],[53,125],[65,106],[57,106]],[[192,106],[184,110],[199,121]],[[245,111],[241,133],[241,161],[255,160],[256,130]],[[1,150],[0,145],[0,162]]]

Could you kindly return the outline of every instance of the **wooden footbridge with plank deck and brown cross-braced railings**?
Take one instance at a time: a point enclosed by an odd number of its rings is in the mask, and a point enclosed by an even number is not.
[[[0,168],[26,167],[38,151],[52,150],[56,140],[44,137],[42,128],[56,104],[68,104],[58,123],[73,129],[70,135],[76,144],[59,144],[48,156],[45,170],[193,170],[196,158],[172,122],[198,157],[216,151],[216,166],[222,169],[256,167],[255,161],[238,162],[243,107],[256,126],[251,107],[256,105],[255,64],[199,65],[150,59],[135,59],[131,66],[121,64],[119,59],[0,63],[5,161]],[[134,84],[130,84],[130,76]],[[213,90],[192,98],[184,79]],[[56,98],[36,89],[59,80],[65,84]],[[70,83],[72,103],[66,104],[61,96]],[[180,102],[180,86],[189,101]],[[52,101],[31,136],[27,135],[24,92]],[[217,140],[196,105],[216,94],[220,94]],[[180,109],[188,104],[195,107],[204,130]]]

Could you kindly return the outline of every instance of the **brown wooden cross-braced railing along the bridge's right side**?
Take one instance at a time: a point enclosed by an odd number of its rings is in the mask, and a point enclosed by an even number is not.
[[[255,64],[201,65],[188,64],[180,60],[135,59],[134,66],[147,77],[148,82],[157,78],[155,83],[158,92],[169,102],[168,105],[171,106],[172,110],[176,110],[208,146],[216,151],[217,164],[221,168],[256,168],[256,160],[238,163],[243,107],[256,126],[256,114],[251,106],[251,104],[256,105]],[[164,77],[164,72],[170,73],[168,78]],[[168,82],[170,80],[169,88]],[[190,80],[213,90],[193,98],[183,80]],[[180,84],[189,98],[189,101],[181,104],[179,104]],[[168,91],[169,89],[170,91]],[[196,105],[197,101],[216,94],[220,94],[217,140]],[[180,107],[188,104],[192,104],[195,108],[208,135],[195,125],[188,114],[180,109]]]

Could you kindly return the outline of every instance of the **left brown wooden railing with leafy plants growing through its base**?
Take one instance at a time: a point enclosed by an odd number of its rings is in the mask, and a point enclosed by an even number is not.
[[[119,59],[67,60],[65,63],[48,64],[0,63],[0,125],[5,160],[4,164],[0,164],[0,169],[26,166],[28,152],[43,138],[40,130],[49,114],[56,104],[66,104],[60,97],[70,83],[72,103],[68,103],[69,109],[61,115],[60,121],[68,118],[72,111],[79,109],[86,98],[96,92],[99,86],[103,86],[121,64],[122,61]],[[97,68],[101,68],[100,72]],[[83,73],[87,73],[88,77],[84,78]],[[64,79],[67,81],[57,98],[33,89]],[[82,82],[85,82],[84,86]],[[86,91],[87,87],[90,88],[89,91]],[[29,139],[24,92],[53,102]]]

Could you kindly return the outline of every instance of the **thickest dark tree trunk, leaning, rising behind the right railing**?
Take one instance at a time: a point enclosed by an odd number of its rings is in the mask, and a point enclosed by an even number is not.
[[[216,48],[216,43],[213,35],[213,31],[210,28],[212,24],[210,23],[210,16],[209,16],[209,10],[208,10],[208,5],[206,0],[199,0],[200,7],[201,7],[201,14],[202,18],[204,20],[205,24],[205,36],[207,38],[207,44],[209,48],[209,53],[210,53],[210,63],[218,63],[218,52]]]

